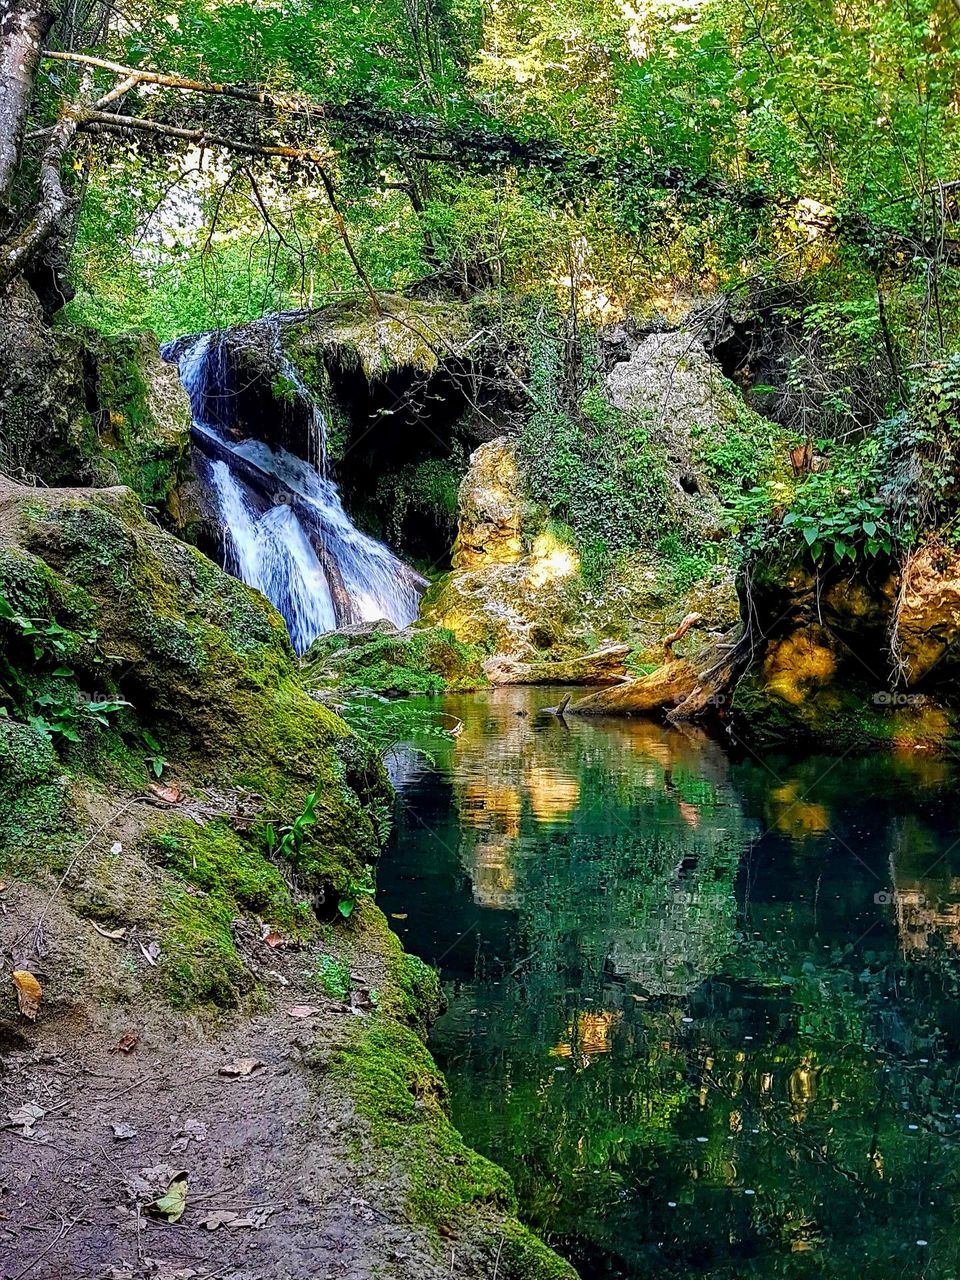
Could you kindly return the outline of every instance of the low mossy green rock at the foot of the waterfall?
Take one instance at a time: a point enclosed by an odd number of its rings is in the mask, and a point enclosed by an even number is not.
[[[394,626],[385,618],[319,636],[301,660],[310,689],[435,694],[481,689],[483,653],[445,627]]]

